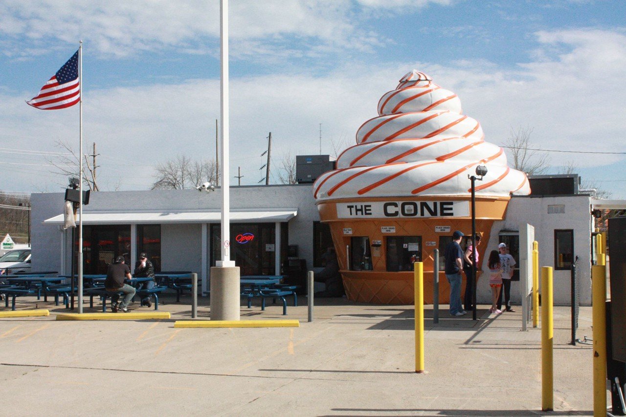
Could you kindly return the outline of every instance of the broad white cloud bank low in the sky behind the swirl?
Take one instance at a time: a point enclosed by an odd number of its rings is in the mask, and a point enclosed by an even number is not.
[[[274,166],[283,153],[319,153],[319,123],[322,152],[332,153],[331,139],[353,143],[361,123],[376,116],[379,98],[413,68],[458,93],[464,113],[480,121],[488,142],[501,144],[511,126],[529,126],[531,141],[541,148],[623,150],[623,34],[578,30],[536,36],[536,56],[541,58],[513,70],[488,61],[451,66],[346,62],[317,76],[300,70],[295,75],[231,78],[231,175],[239,166],[243,183],[254,184],[264,175],[258,168],[265,163],[260,153],[267,147],[269,131]],[[28,93],[0,96],[0,136],[13,138],[14,147],[42,150],[54,150],[54,138],[78,141],[75,110],[37,111],[23,103],[24,96]],[[121,181],[122,189],[145,189],[153,163],[177,154],[212,158],[219,100],[218,80],[88,91],[85,143],[98,143],[102,180],[108,187]],[[619,159],[552,154],[554,165],[572,160],[579,167]],[[0,183],[0,188],[13,187]]]

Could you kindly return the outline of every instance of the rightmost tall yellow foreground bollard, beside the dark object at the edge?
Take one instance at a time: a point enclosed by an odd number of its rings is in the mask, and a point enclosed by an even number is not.
[[[607,415],[607,267],[591,267],[593,320],[593,415]]]

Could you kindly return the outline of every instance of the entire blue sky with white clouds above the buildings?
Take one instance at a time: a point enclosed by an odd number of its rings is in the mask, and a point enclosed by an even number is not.
[[[219,2],[0,0],[0,189],[61,190],[58,140],[78,150],[78,106],[24,103],[84,41],[84,143],[103,190],[145,190],[175,155],[213,158]],[[532,130],[551,172],[572,163],[626,198],[622,1],[230,0],[231,177],[284,155],[336,154],[414,68],[459,95],[485,140]],[[89,152],[85,152],[89,153]],[[272,182],[278,182],[272,173]],[[233,178],[234,180],[234,178]]]

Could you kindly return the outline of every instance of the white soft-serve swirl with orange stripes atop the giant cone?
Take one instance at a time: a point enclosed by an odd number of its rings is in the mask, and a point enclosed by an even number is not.
[[[379,116],[356,133],[357,145],[337,169],[314,183],[318,200],[334,198],[468,196],[468,174],[486,165],[477,195],[530,193],[525,173],[511,169],[503,150],[485,142],[480,123],[463,115],[452,91],[413,70],[378,102]]]

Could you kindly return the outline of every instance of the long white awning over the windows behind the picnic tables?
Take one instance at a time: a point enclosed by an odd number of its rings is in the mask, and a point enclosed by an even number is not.
[[[232,223],[288,222],[298,214],[297,209],[277,209],[230,212]],[[80,215],[76,216],[76,223]],[[83,224],[172,224],[219,223],[222,212],[84,212]],[[63,214],[44,220],[44,224],[63,224]]]

